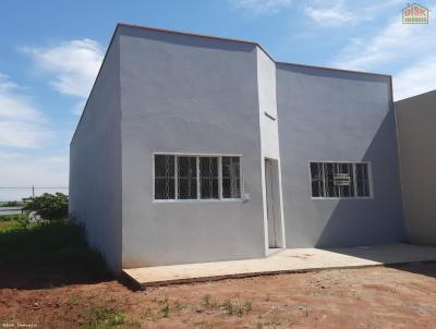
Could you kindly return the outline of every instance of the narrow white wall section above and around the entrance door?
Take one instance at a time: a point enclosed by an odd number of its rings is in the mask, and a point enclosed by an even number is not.
[[[283,203],[281,199],[281,170],[280,170],[280,149],[279,132],[277,121],[277,96],[276,96],[276,63],[263,51],[257,48],[257,85],[259,102],[259,123],[261,123],[261,143],[262,143],[262,187],[263,187],[263,207],[264,207],[264,227],[265,227],[265,249],[268,249],[268,216],[266,205],[265,186],[265,158],[278,160],[278,190],[279,190],[279,214],[281,222],[277,228],[279,235],[278,243],[286,246],[284,222],[283,222]]]

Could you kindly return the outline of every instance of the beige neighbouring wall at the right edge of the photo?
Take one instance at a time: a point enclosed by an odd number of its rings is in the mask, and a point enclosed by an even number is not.
[[[412,243],[436,245],[436,92],[396,102],[404,216]]]

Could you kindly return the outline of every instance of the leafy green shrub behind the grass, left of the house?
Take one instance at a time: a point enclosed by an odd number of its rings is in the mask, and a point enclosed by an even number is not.
[[[27,214],[35,211],[47,220],[65,219],[68,218],[68,196],[63,193],[44,193],[41,196],[26,199],[23,210]]]

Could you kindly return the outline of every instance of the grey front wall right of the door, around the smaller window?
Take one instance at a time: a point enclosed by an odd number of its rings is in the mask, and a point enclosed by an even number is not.
[[[277,64],[288,247],[404,239],[388,76]],[[370,161],[371,199],[312,199],[310,161]]]

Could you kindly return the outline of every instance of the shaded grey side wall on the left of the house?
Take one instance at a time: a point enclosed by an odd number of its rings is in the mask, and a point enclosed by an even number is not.
[[[121,131],[119,39],[108,50],[70,145],[70,214],[92,247],[121,266]]]

